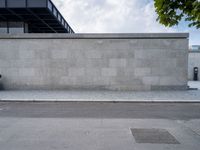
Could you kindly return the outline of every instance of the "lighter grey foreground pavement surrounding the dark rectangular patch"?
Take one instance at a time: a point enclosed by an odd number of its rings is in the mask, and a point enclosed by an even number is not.
[[[197,150],[200,136],[186,123],[163,119],[0,118],[0,145],[3,150]],[[179,144],[137,143],[132,128],[165,130]]]

